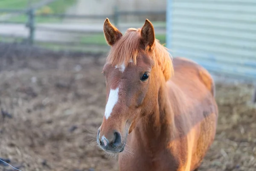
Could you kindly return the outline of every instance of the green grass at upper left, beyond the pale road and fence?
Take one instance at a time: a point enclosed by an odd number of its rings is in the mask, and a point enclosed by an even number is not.
[[[39,2],[40,0],[31,0],[32,3]],[[57,0],[53,3],[49,3],[47,6],[43,6],[36,10],[36,23],[52,23],[61,22],[61,18],[44,17],[41,14],[63,14],[66,10],[76,3],[76,0]],[[27,0],[0,0],[0,8],[8,9],[26,9]],[[2,13],[3,14],[3,13]],[[26,14],[21,14],[17,17],[11,18],[9,21],[12,22],[27,22],[28,16]]]

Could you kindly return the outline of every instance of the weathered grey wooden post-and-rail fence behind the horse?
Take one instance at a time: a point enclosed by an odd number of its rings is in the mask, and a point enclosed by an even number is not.
[[[11,20],[1,20],[0,19],[0,24],[12,24],[10,26],[12,27],[25,27],[27,29],[27,33],[23,34],[22,32],[25,32],[25,31],[21,31],[22,29],[20,29],[20,34],[22,35],[17,35],[15,36],[15,34],[12,34],[12,37],[17,37],[17,38],[21,38],[23,42],[26,42],[27,44],[29,45],[35,45],[35,43],[39,42],[41,43],[41,41],[37,41],[35,39],[35,32],[53,32],[56,33],[56,34],[62,34],[64,35],[67,35],[70,37],[70,35],[76,35],[73,37],[73,40],[75,41],[70,41],[68,39],[65,39],[64,36],[60,36],[62,37],[61,40],[58,40],[58,41],[55,41],[54,39],[51,39],[49,41],[46,40],[46,38],[44,38],[44,41],[43,43],[44,44],[58,44],[58,45],[66,45],[66,46],[87,46],[87,45],[93,45],[93,46],[101,46],[102,43],[93,43],[90,41],[87,41],[87,44],[83,44],[81,42],[78,42],[76,41],[76,38],[79,37],[79,34],[87,34],[87,35],[92,35],[92,34],[101,34],[103,29],[102,29],[102,24],[101,23],[101,26],[91,26],[90,24],[87,24],[86,26],[84,26],[83,24],[79,25],[79,23],[76,23],[77,27],[74,26],[74,24],[69,24],[68,22],[66,23],[40,23],[38,24],[36,22],[36,19],[37,18],[58,18],[58,19],[65,19],[65,20],[86,20],[86,19],[91,19],[91,20],[100,20],[100,21],[104,21],[106,17],[108,17],[111,22],[113,24],[115,24],[115,26],[117,26],[119,29],[126,29],[128,27],[139,27],[140,25],[142,26],[143,22],[142,21],[141,23],[138,23],[136,26],[130,26],[130,25],[127,25],[124,26],[122,24],[122,22],[120,22],[122,20],[122,17],[125,17],[125,16],[131,16],[131,15],[135,15],[135,16],[145,16],[145,18],[148,18],[148,16],[161,16],[162,18],[165,17],[166,15],[166,12],[165,11],[158,11],[158,12],[152,12],[152,11],[119,11],[118,10],[118,7],[116,6],[113,10],[113,14],[111,15],[76,15],[76,14],[37,14],[36,13],[36,10],[41,8],[42,6],[45,6],[49,3],[52,3],[56,0],[44,0],[42,1],[41,3],[39,4],[36,4],[35,6],[31,6],[27,9],[20,9],[20,10],[17,10],[17,9],[0,9],[0,12],[5,12],[5,13],[11,13],[11,14],[14,14],[14,15],[26,15],[26,18],[27,18],[27,21],[26,22],[20,22],[20,21],[11,21]],[[120,19],[121,18],[121,19]],[[161,24],[156,24],[155,25],[155,28],[157,30],[159,30],[162,35],[165,34],[165,20],[162,20],[161,21],[162,23]],[[16,27],[16,28],[17,28]],[[3,28],[4,29],[4,28]],[[8,29],[8,28],[6,28]],[[14,28],[15,29],[15,28]],[[24,30],[24,28],[23,28]],[[0,36],[3,36],[3,37],[8,37],[9,35],[8,34],[2,34],[0,33]],[[163,38],[164,39],[164,38]],[[165,40],[162,40],[163,43]]]

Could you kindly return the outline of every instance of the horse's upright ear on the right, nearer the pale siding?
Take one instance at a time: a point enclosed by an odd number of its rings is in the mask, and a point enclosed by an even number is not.
[[[147,49],[149,47],[150,49],[154,45],[155,36],[154,27],[148,19],[145,20],[145,24],[141,29],[140,35],[145,48]]]

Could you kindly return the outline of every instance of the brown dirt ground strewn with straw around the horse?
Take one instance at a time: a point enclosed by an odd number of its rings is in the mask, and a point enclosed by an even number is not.
[[[22,171],[117,171],[91,145],[105,107],[104,61],[0,44],[0,158]],[[200,171],[255,171],[253,87],[216,86],[217,134]],[[2,162],[0,170],[13,171]]]

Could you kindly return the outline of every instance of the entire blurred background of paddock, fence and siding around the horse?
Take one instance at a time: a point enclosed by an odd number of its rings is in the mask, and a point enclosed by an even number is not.
[[[0,0],[0,159],[22,171],[118,170],[93,145],[106,17],[122,33],[148,18],[174,58],[212,74],[219,120],[200,171],[255,171],[255,0]]]

